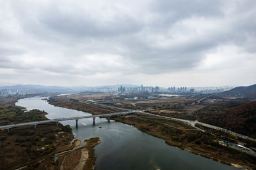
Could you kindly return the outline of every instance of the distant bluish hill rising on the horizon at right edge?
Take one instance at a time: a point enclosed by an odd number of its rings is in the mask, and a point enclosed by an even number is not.
[[[247,87],[236,87],[234,89],[228,90],[218,94],[220,97],[256,97],[256,84]]]

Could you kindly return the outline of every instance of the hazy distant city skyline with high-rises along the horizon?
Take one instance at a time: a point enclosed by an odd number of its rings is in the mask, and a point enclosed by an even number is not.
[[[72,94],[79,92],[109,92],[115,94],[154,94],[167,96],[171,93],[175,94],[213,94],[225,92],[233,87],[147,87],[143,85],[113,85],[101,87],[56,87],[42,85],[13,85],[0,87],[0,97],[6,96],[28,96],[45,93],[64,93]],[[133,100],[133,98],[132,98]]]

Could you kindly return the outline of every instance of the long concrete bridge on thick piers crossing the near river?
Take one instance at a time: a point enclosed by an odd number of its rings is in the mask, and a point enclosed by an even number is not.
[[[27,125],[39,125],[39,124],[49,124],[49,123],[57,123],[61,121],[66,121],[66,120],[76,120],[76,127],[78,127],[78,120],[81,118],[92,118],[93,119],[93,125],[95,125],[95,118],[96,117],[108,117],[108,122],[110,122],[110,117],[112,116],[121,116],[121,115],[130,115],[137,113],[138,111],[136,110],[130,110],[130,111],[124,111],[124,112],[118,112],[118,113],[108,113],[108,114],[103,114],[103,115],[90,115],[90,116],[83,116],[83,117],[70,117],[70,118],[55,118],[51,120],[41,120],[37,122],[26,122],[22,124],[12,124],[12,125],[3,125],[0,126],[0,129],[9,129],[14,128],[14,127],[21,127],[21,126],[27,126]]]

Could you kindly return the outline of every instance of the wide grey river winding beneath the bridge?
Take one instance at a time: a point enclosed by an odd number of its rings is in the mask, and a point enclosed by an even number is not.
[[[44,110],[46,117],[65,118],[91,115],[82,111],[52,106],[42,97],[20,99],[16,105],[27,110]],[[99,137],[101,143],[95,147],[97,169],[237,169],[221,164],[185,150],[166,145],[163,139],[138,131],[135,127],[120,122],[108,122],[106,118],[92,118],[61,122],[70,125],[77,139]],[[99,128],[102,127],[102,128]]]

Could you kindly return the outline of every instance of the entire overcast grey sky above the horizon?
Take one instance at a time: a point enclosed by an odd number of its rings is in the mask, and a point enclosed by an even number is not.
[[[256,1],[0,1],[0,85],[256,83]]]

